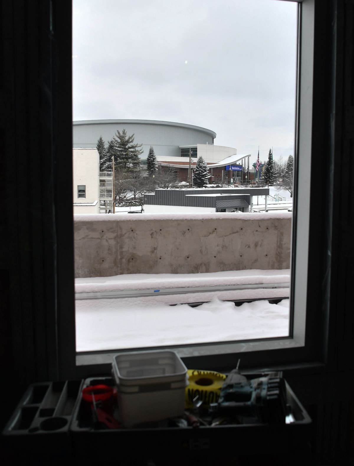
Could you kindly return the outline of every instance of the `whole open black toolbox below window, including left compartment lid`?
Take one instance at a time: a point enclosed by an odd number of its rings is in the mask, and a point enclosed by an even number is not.
[[[259,377],[259,373],[244,373],[248,378]],[[84,399],[83,391],[88,387],[111,388],[111,415],[118,419],[112,428],[95,419],[94,403]],[[222,454],[273,454],[286,455],[292,451],[289,464],[297,464],[307,455],[309,426],[311,419],[285,381],[286,404],[289,409],[287,424],[190,425],[177,426],[175,419],[165,419],[125,428],[119,422],[119,410],[115,377],[91,377],[86,380],[47,382],[28,387],[3,434],[16,439],[16,445],[26,445],[36,455],[56,452],[60,445],[72,458],[90,460],[104,458],[131,459],[143,455],[145,458],[185,458],[197,455],[201,458]],[[93,396],[93,401],[97,395]],[[97,403],[97,408],[100,406]],[[106,409],[106,408],[105,408]],[[99,408],[97,409],[99,411]],[[174,421],[174,422],[171,422]],[[45,435],[45,441],[43,441]],[[114,446],[115,445],[115,446]],[[137,445],[139,447],[137,448]],[[114,447],[113,447],[114,446]]]

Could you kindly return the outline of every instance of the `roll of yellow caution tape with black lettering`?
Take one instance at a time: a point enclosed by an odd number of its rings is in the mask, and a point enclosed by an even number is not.
[[[189,385],[186,388],[186,408],[193,408],[193,399],[199,397],[202,406],[208,408],[210,403],[217,403],[225,374],[209,370],[188,370]]]

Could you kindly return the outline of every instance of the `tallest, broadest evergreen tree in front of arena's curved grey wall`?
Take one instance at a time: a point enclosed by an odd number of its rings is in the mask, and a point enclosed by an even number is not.
[[[114,162],[117,167],[125,168],[128,171],[139,171],[139,155],[144,152],[141,149],[143,144],[134,144],[134,134],[128,136],[125,129],[122,132],[117,130],[112,141],[114,144]]]

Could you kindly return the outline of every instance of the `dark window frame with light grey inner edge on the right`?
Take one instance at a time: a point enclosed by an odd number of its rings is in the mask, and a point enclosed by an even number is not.
[[[316,5],[316,8],[315,8]],[[323,33],[328,26],[327,9],[319,7],[319,0],[304,0],[298,3],[298,99],[296,108],[295,186],[293,209],[292,292],[290,301],[293,323],[291,337],[237,343],[213,343],[180,347],[178,352],[188,367],[199,369],[229,370],[235,367],[242,356],[242,365],[247,368],[298,368],[311,366],[321,368],[326,363],[328,306],[318,299],[318,293],[326,288],[329,277],[328,256],[323,247],[330,236],[323,233],[326,219],[316,211],[313,181],[318,176],[318,158],[330,160],[333,150],[328,138],[319,142],[320,134],[328,126],[328,110],[333,98],[333,81],[323,79],[333,72],[335,54],[323,60]],[[327,8],[327,9],[326,9]],[[55,185],[70,176],[68,166],[72,157],[72,89],[71,89],[71,2],[52,9],[54,31],[57,37],[53,44],[53,64],[57,76],[54,87],[56,102]],[[69,24],[68,24],[69,23]],[[316,27],[315,27],[316,26]],[[326,34],[325,34],[326,35]],[[327,36],[330,34],[327,33]],[[327,37],[326,36],[326,37]],[[328,37],[327,37],[327,40]],[[68,53],[69,52],[69,53]],[[57,63],[61,62],[58,67]],[[63,62],[65,66],[62,66]],[[326,74],[327,73],[327,74]],[[66,95],[67,99],[58,96]],[[324,99],[323,96],[326,98]],[[62,157],[62,154],[66,154]],[[311,154],[310,160],[308,154]],[[323,171],[325,172],[325,165]],[[316,168],[316,170],[315,170]],[[72,173],[71,173],[72,174]],[[298,182],[298,177],[304,177]],[[304,184],[305,181],[305,184]],[[328,180],[331,184],[332,179]],[[62,193],[60,193],[62,195]],[[331,208],[330,185],[327,188],[328,209]],[[60,201],[60,202],[59,202]],[[301,205],[301,213],[297,206]],[[71,208],[69,208],[71,206]],[[59,377],[75,378],[107,374],[111,370],[115,351],[95,351],[76,355],[75,301],[74,301],[74,247],[72,199],[66,196],[63,202],[56,190],[56,235],[57,235],[57,357]],[[318,209],[317,209],[318,210]],[[297,241],[300,238],[300,241]],[[62,253],[62,254],[61,254]],[[318,259],[317,262],[314,261]]]

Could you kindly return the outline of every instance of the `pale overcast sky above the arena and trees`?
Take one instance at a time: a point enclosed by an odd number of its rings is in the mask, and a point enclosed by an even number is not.
[[[73,119],[189,123],[287,158],[296,21],[278,0],[73,0]]]

